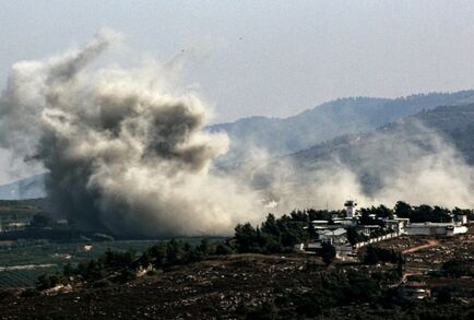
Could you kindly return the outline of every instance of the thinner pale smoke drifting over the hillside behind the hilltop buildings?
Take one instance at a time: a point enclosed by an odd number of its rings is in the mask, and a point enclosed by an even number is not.
[[[364,206],[403,200],[474,208],[474,168],[449,141],[417,121],[351,138],[322,153],[316,149],[277,158],[253,176],[272,190],[282,212],[341,209],[348,198]]]

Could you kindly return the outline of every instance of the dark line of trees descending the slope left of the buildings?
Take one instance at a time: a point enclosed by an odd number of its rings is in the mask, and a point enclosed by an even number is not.
[[[167,242],[157,242],[141,254],[134,251],[107,250],[98,259],[83,261],[76,265],[67,264],[62,273],[42,275],[38,278],[37,288],[45,289],[72,281],[86,282],[93,286],[105,286],[114,282],[126,283],[132,280],[141,268],[152,266],[153,270],[166,270],[174,265],[233,252],[289,252],[296,244],[309,239],[310,230],[305,228],[308,226],[307,220],[317,218],[321,213],[316,211],[293,212],[292,216],[283,215],[279,218],[269,214],[260,226],[253,227],[249,223],[237,225],[232,241],[216,244],[204,238],[200,245],[192,246],[182,240],[171,239]],[[38,224],[42,222],[39,220]],[[332,246],[324,245],[321,256],[329,264],[335,257],[335,250]]]

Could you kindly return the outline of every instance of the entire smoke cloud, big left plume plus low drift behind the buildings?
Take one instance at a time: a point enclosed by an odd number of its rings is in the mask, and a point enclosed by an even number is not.
[[[204,130],[206,106],[197,94],[170,87],[165,68],[91,67],[118,38],[105,31],[81,50],[15,63],[0,100],[0,145],[20,159],[19,168],[46,169],[57,213],[83,227],[227,235],[237,223],[261,221],[268,203],[279,203],[272,210],[280,213],[327,203],[340,209],[349,195],[365,204],[401,199],[474,206],[472,169],[443,143],[429,156],[399,157],[389,170],[377,168],[381,158],[374,153],[366,166],[378,170],[378,190],[364,190],[359,173],[333,158],[311,174],[281,164],[269,189],[258,192],[249,177],[213,168],[230,142]],[[400,154],[410,146],[398,145]]]

